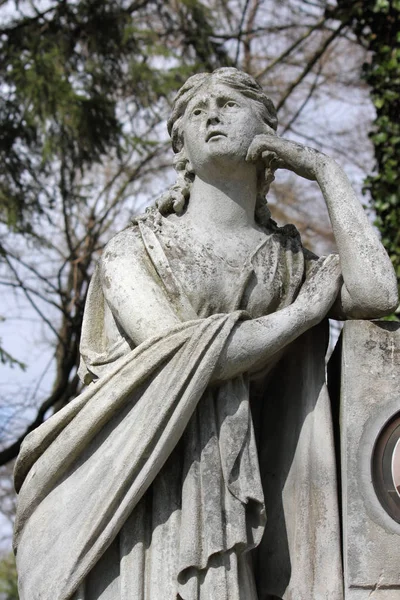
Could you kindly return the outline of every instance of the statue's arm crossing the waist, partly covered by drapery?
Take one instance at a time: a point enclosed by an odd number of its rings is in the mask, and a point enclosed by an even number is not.
[[[140,246],[135,236],[126,230],[106,246],[101,261],[107,303],[136,345],[164,331],[167,333],[180,322]],[[235,326],[213,380],[230,379],[261,369],[277,352],[325,317],[340,285],[337,257],[331,255],[318,261],[293,304]]]

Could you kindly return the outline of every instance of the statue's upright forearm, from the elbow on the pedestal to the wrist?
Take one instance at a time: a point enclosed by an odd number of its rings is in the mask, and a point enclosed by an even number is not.
[[[345,173],[326,157],[317,170],[317,181],[340,255],[343,312],[353,318],[376,318],[392,312],[398,303],[392,264]]]

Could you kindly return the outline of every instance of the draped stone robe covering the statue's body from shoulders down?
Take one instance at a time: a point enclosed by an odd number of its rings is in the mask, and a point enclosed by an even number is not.
[[[123,330],[100,264],[88,387],[16,466],[21,600],[341,600],[326,324],[211,384],[233,327],[294,301],[310,258],[298,233],[266,231],[237,269],[153,211],[105,256],[127,248],[148,335],[135,346]],[[159,303],[176,325],[157,331]]]

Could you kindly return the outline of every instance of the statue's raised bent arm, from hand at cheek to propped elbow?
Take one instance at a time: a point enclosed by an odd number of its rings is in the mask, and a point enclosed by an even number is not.
[[[316,181],[321,188],[344,282],[335,313],[371,319],[393,312],[398,305],[394,269],[343,169],[317,150],[272,135],[257,136],[248,159],[269,152],[277,156],[277,166]]]

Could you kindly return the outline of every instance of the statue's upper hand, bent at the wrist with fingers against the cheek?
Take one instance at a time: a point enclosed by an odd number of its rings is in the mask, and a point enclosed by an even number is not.
[[[318,150],[267,134],[256,135],[247,151],[246,160],[256,162],[260,158],[269,161],[273,169],[288,169],[311,180],[317,179],[321,167],[332,160]]]

